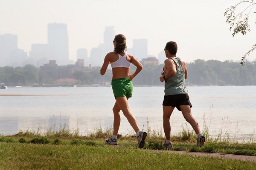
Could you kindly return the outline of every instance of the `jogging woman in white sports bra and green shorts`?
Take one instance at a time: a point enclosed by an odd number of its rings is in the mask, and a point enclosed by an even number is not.
[[[131,80],[142,70],[143,66],[134,56],[126,52],[126,38],[124,35],[116,35],[113,40],[113,45],[114,51],[106,55],[100,70],[100,74],[104,75],[108,64],[111,64],[113,76],[111,86],[116,99],[116,103],[113,107],[113,135],[109,137],[109,139],[106,139],[105,143],[117,145],[117,133],[121,122],[120,110],[122,110],[131,127],[137,134],[138,147],[143,148],[147,133],[140,131],[137,120],[131,113],[128,105],[128,98],[132,96],[133,91]],[[134,74],[129,74],[130,63],[137,67]]]

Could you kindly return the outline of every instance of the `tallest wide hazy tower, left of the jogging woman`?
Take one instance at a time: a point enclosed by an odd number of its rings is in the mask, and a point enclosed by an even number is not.
[[[48,24],[49,59],[56,60],[58,65],[67,65],[69,61],[69,47],[67,24]]]

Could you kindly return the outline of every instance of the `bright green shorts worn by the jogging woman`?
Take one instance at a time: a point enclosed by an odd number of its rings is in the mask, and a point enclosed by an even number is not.
[[[113,94],[116,97],[127,97],[132,96],[133,84],[130,77],[112,79],[111,81]]]

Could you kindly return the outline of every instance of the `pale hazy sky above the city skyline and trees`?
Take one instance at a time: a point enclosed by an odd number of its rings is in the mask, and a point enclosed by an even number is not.
[[[239,0],[0,0],[0,34],[17,34],[18,48],[47,43],[48,23],[67,23],[70,59],[78,48],[103,42],[105,26],[133,39],[148,39],[148,54],[158,56],[168,41],[178,44],[177,56],[195,59],[240,60],[256,43],[255,15],[251,32],[232,37],[225,9]],[[112,42],[109,42],[112,43]],[[129,51],[128,51],[129,52]],[[136,56],[135,56],[136,57]],[[250,54],[256,59],[256,52]]]

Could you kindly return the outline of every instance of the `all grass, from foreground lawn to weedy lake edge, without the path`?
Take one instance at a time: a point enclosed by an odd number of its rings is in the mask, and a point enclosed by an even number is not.
[[[135,135],[119,135],[119,145],[112,146],[104,144],[111,129],[106,132],[99,129],[88,136],[79,136],[78,132],[70,133],[63,128],[44,135],[26,131],[0,136],[0,170],[256,169],[252,162],[158,152],[165,150],[161,147],[164,139],[150,129],[143,150],[137,149]],[[210,139],[205,147],[198,148],[195,134],[189,130],[172,136],[172,143],[174,148],[170,150],[256,156],[256,143],[214,142]]]

